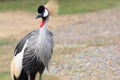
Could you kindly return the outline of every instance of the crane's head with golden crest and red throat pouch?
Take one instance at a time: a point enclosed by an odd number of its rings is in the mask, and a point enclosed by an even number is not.
[[[50,0],[45,6],[41,5],[38,7],[38,15],[36,16],[36,19],[42,18],[40,28],[44,25],[47,26],[49,15],[55,16],[58,14],[58,7],[57,0]]]

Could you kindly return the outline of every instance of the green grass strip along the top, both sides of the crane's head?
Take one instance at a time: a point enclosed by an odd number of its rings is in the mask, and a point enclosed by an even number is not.
[[[0,0],[0,12],[25,11],[35,13],[48,0]],[[119,6],[120,0],[58,0],[60,14],[87,13]]]

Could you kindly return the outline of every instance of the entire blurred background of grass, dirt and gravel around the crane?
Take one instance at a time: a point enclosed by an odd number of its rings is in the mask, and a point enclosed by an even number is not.
[[[0,0],[0,80],[21,38],[39,28],[37,8],[48,0]],[[48,30],[55,48],[43,80],[120,80],[120,0],[58,0]]]

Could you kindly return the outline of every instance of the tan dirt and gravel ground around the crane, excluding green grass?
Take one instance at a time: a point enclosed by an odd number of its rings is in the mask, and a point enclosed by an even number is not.
[[[55,48],[49,72],[45,74],[60,80],[120,80],[119,13],[120,8],[114,8],[51,17],[48,29],[54,33]],[[0,13],[0,37],[19,41],[37,29],[39,21],[23,12]],[[1,52],[13,54],[15,44],[0,47]],[[1,64],[0,72],[9,71],[12,55],[0,57],[5,63]]]

